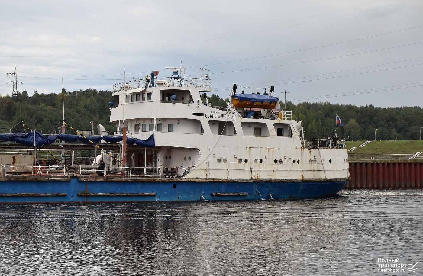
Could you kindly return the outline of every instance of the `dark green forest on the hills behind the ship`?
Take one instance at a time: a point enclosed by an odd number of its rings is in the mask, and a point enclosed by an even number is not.
[[[109,123],[109,102],[113,101],[112,92],[87,89],[79,91],[64,90],[64,112],[66,122],[78,130],[91,130],[102,124],[109,133],[116,130]],[[212,94],[207,97],[214,107],[226,107],[228,99]],[[339,137],[350,141],[362,139],[373,140],[416,140],[420,138],[423,126],[423,111],[420,107],[374,107],[373,105],[354,106],[350,104],[330,104],[329,102],[293,104],[283,103],[284,109],[293,110],[293,119],[302,120],[305,136],[309,138],[332,135],[335,131],[336,114],[344,127],[337,126]],[[22,120],[30,129],[48,130],[60,128],[63,117],[62,94],[43,94],[27,91],[18,93],[17,97],[0,96],[1,132],[15,128],[23,130]],[[44,133],[44,132],[43,132]]]

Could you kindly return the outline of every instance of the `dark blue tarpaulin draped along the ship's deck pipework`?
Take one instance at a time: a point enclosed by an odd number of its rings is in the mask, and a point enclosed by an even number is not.
[[[87,139],[85,139],[84,137],[81,137],[79,135],[73,135],[73,134],[54,134],[54,135],[50,135],[48,137],[44,136],[43,134],[41,134],[38,131],[35,131],[35,144],[37,146],[47,146],[50,145],[51,143],[55,142],[56,139],[60,139],[60,141],[63,142],[76,142],[76,141],[80,141],[86,144],[89,144],[89,140],[91,140],[93,143],[98,143],[101,140],[104,140],[106,142],[112,142],[112,143],[116,143],[116,142],[121,142],[123,137],[122,136],[86,136]],[[20,144],[23,145],[34,145],[34,132],[31,131],[30,133],[27,134],[20,134],[20,133],[0,133],[0,141],[14,141],[14,142],[18,142]],[[136,138],[132,138],[132,137],[127,137],[126,138],[126,143],[128,145],[137,145],[140,147],[146,147],[146,148],[154,148],[156,146],[156,143],[154,142],[154,134],[151,134],[150,137],[148,137],[148,139],[136,139]]]

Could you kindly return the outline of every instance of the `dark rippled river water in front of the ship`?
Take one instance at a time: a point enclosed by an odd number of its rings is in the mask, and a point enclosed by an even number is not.
[[[423,275],[422,236],[422,190],[0,205],[0,275]]]

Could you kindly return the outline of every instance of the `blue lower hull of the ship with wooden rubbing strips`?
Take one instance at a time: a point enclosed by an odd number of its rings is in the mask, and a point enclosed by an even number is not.
[[[324,197],[348,179],[278,182],[181,179],[13,179],[0,180],[0,203],[257,200]]]

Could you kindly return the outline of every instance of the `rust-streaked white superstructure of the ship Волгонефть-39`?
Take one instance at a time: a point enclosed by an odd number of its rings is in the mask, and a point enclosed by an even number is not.
[[[143,80],[114,86],[110,122],[118,135],[125,124],[128,137],[154,134],[156,145],[129,146],[128,166],[149,175],[174,171],[187,179],[349,178],[344,141],[304,139],[302,124],[292,120],[290,110],[254,113],[235,109],[231,102],[227,108],[211,107],[201,98],[211,92],[209,77],[188,79],[179,76],[178,69],[184,68],[170,69],[168,79],[155,79],[154,71]]]

